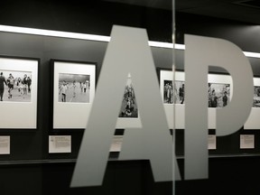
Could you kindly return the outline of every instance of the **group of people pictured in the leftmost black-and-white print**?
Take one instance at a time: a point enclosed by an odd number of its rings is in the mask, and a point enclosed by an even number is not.
[[[27,76],[27,74],[23,75],[23,78],[16,77],[14,78],[12,73],[9,73],[9,76],[5,77],[4,73],[0,73],[0,100],[4,101],[5,97],[5,88],[7,88],[7,99],[12,99],[14,96],[25,98],[25,95],[31,93],[31,85],[32,79]],[[14,90],[15,93],[14,93]]]

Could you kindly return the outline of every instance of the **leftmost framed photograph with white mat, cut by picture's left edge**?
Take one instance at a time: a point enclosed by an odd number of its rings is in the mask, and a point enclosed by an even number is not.
[[[36,129],[39,59],[0,56],[1,129]]]

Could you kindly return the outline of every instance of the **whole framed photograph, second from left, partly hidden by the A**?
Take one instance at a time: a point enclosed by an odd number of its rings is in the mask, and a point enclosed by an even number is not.
[[[53,129],[84,129],[95,97],[94,62],[51,60]]]

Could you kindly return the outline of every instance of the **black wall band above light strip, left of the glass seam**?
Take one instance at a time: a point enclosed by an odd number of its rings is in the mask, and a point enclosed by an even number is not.
[[[5,1],[0,7],[0,23],[98,35],[109,35],[113,24],[127,25],[147,29],[150,40],[172,41],[171,12],[102,0]]]

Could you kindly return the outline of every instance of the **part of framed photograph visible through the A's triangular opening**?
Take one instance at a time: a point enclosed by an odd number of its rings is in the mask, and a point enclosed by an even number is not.
[[[125,78],[125,91],[116,121],[116,128],[127,127],[142,127],[135,99],[135,87],[130,73]]]

